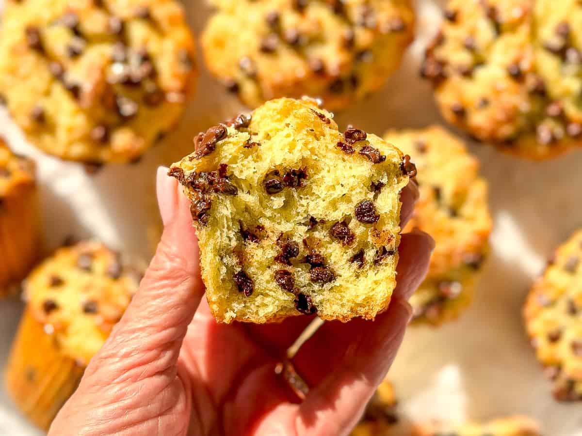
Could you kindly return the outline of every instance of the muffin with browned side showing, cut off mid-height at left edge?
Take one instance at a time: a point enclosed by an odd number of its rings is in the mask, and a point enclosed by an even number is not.
[[[26,276],[42,251],[35,165],[0,137],[0,296]]]

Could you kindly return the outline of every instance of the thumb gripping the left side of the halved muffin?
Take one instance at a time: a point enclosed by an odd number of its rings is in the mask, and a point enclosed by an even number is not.
[[[122,320],[91,361],[89,374],[104,359],[109,359],[109,368],[118,371],[110,377],[137,374],[145,378],[173,367],[187,326],[204,294],[189,201],[179,192],[177,181],[166,175],[167,171],[161,167],[157,174],[164,223],[161,241]],[[133,371],[124,374],[129,369]]]

